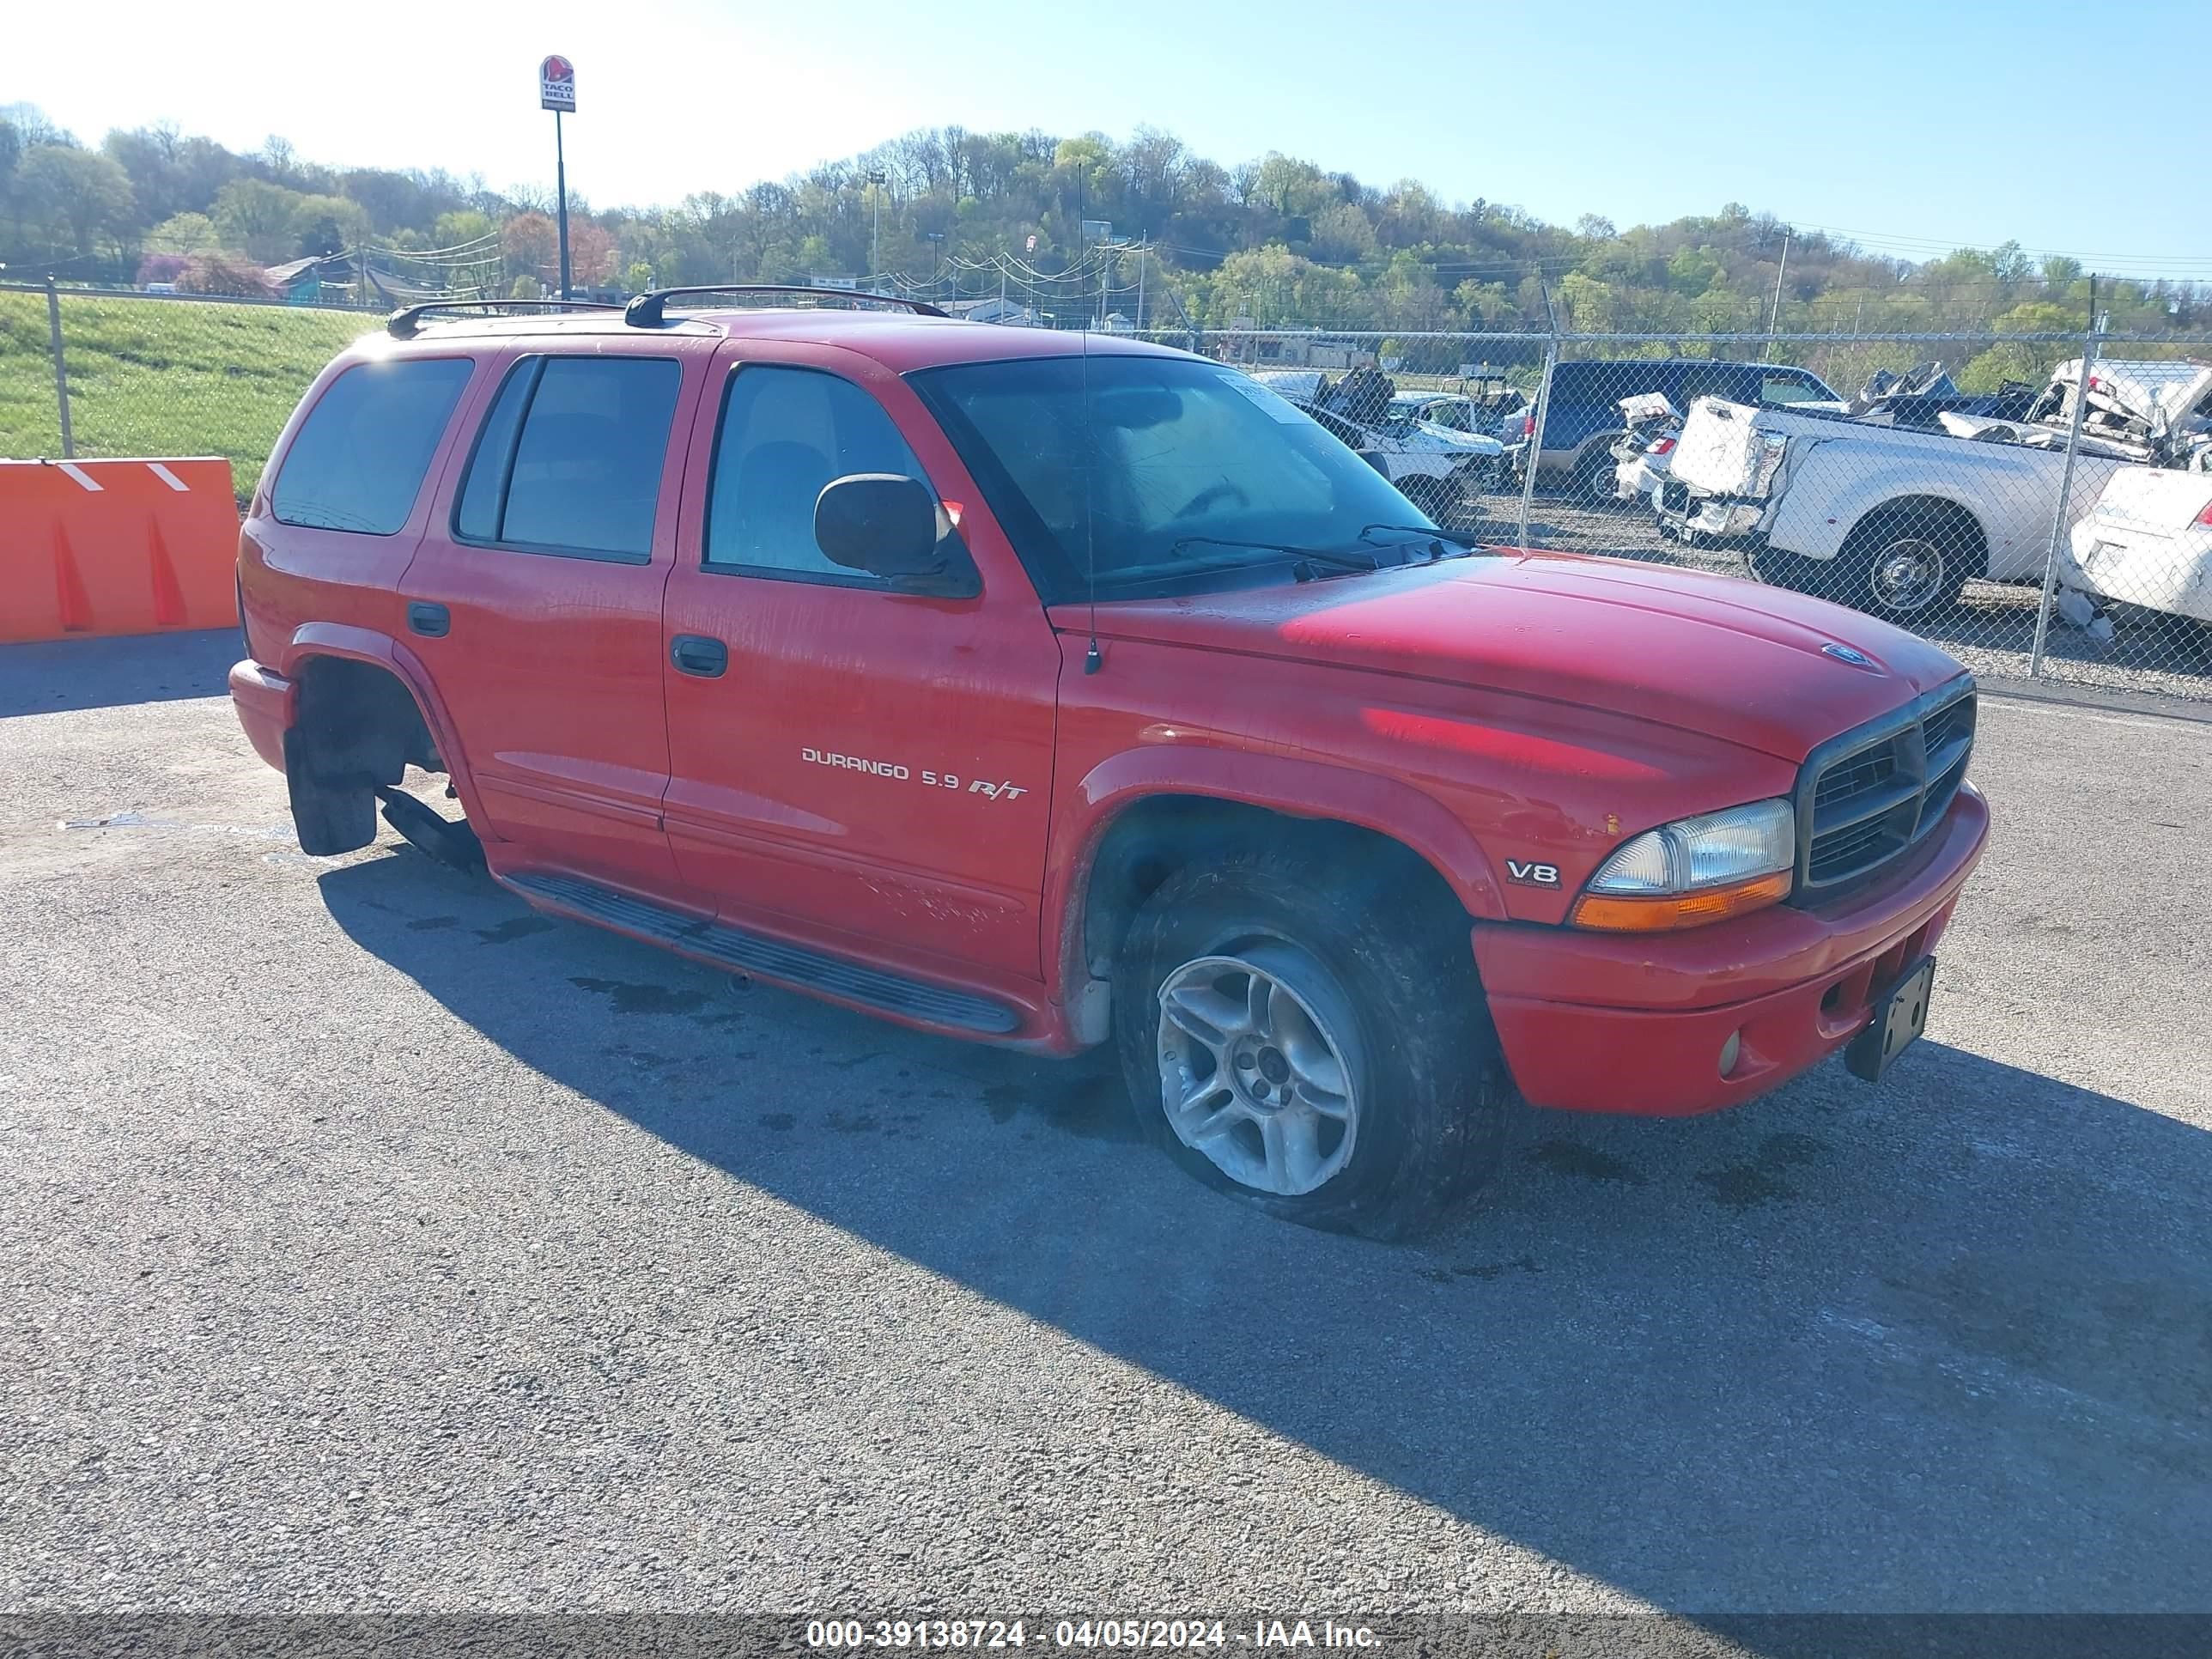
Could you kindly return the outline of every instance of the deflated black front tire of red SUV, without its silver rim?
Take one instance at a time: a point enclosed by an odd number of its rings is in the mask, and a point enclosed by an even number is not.
[[[1168,876],[1115,960],[1115,1046],[1141,1130],[1208,1186],[1310,1228],[1405,1239],[1498,1170],[1513,1086],[1458,905],[1429,894],[1394,902],[1367,887],[1281,852],[1228,854]],[[1166,1110],[1164,1055],[1177,1033],[1164,1033],[1161,991],[1194,962],[1245,956],[1270,971],[1294,962],[1325,975],[1316,1006],[1347,1024],[1356,1133],[1347,1130],[1343,1168],[1301,1194],[1232,1179],[1186,1144]]]

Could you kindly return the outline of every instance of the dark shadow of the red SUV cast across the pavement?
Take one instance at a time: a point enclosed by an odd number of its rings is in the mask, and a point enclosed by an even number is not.
[[[1880,1091],[1526,1113],[1486,1201],[1385,1248],[1186,1181],[1093,1060],[730,993],[411,852],[321,889],[686,1155],[1754,1648],[1856,1650],[1741,1615],[2212,1606],[2212,1135],[2166,1115],[1931,1037]]]

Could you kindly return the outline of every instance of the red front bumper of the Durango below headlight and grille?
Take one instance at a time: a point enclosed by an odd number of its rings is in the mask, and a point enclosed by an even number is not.
[[[1776,905],[1663,936],[1478,922],[1513,1082],[1535,1106],[1641,1117],[1739,1106],[1790,1082],[1936,949],[1986,838],[1989,805],[1966,783],[1898,869],[1823,909]],[[1723,1077],[1732,1035],[1741,1048]]]

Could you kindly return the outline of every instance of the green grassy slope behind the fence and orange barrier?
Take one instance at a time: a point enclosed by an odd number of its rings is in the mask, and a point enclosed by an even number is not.
[[[69,414],[80,456],[228,456],[252,493],[301,392],[354,312],[62,294]],[[0,294],[0,456],[60,456],[44,294]]]

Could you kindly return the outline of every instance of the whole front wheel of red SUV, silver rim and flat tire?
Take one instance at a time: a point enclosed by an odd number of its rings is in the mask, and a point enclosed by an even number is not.
[[[1287,854],[1177,872],[1124,940],[1115,1035],[1139,1121],[1201,1181],[1411,1237],[1495,1170],[1513,1095],[1464,927],[1358,887]]]

